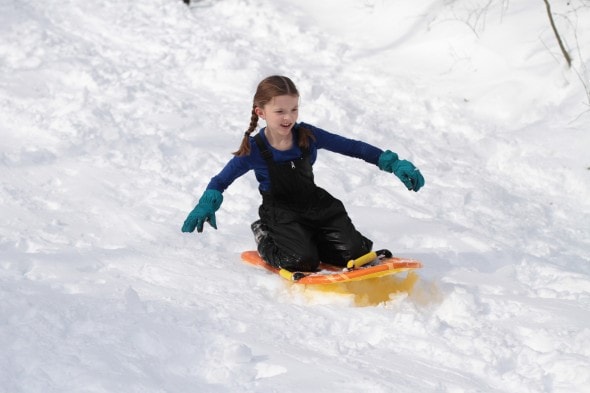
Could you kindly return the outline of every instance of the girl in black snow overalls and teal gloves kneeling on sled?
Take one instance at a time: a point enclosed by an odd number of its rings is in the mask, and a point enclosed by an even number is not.
[[[346,266],[371,251],[373,242],[359,233],[342,202],[316,186],[312,165],[318,149],[363,159],[394,173],[408,190],[418,191],[424,178],[396,153],[297,123],[299,92],[285,76],[270,76],[254,95],[250,127],[225,168],[211,179],[188,215],[183,232],[203,231],[205,221],[217,229],[215,212],[222,192],[238,177],[254,170],[262,194],[260,219],[252,231],[260,256],[289,271],[314,271],[320,261]],[[252,137],[258,120],[266,127]]]

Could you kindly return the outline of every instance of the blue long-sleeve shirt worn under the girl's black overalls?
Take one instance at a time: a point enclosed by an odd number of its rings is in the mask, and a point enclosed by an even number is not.
[[[297,129],[300,126],[311,130],[315,136],[315,141],[310,140],[309,147],[312,165],[316,161],[318,149],[326,149],[350,157],[360,158],[375,165],[377,165],[379,156],[381,153],[383,153],[383,150],[368,143],[332,134],[328,131],[322,130],[321,128],[314,127],[311,124],[298,123],[293,129],[293,138],[295,139],[293,147],[289,150],[283,151],[273,148],[270,146],[266,136],[264,135],[264,129],[259,131],[268,150],[272,153],[273,160],[275,162],[288,162],[301,157],[301,149],[296,143]],[[223,192],[234,182],[234,180],[250,170],[254,170],[256,180],[258,180],[259,183],[260,191],[270,191],[268,166],[264,161],[264,158],[262,157],[256,142],[254,142],[253,137],[250,137],[250,154],[242,157],[233,157],[225,165],[221,172],[211,179],[207,185],[207,189],[214,189],[219,192]]]

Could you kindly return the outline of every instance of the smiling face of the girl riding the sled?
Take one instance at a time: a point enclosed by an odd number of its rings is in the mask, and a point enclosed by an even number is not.
[[[256,114],[266,121],[266,128],[286,136],[291,133],[299,115],[299,97],[282,95],[270,100],[263,108],[256,107]]]

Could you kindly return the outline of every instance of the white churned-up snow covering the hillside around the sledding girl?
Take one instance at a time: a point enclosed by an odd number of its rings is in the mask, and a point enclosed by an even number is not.
[[[588,392],[590,7],[552,3],[572,69],[538,0],[0,0],[0,391]],[[242,264],[252,174],[180,232],[274,73],[421,168],[315,167],[415,285]]]

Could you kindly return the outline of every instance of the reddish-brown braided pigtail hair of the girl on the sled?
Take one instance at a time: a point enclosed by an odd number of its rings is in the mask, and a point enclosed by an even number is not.
[[[297,87],[295,87],[293,81],[286,76],[272,75],[264,78],[258,84],[252,104],[250,126],[244,133],[240,148],[238,151],[233,153],[234,155],[241,157],[250,154],[250,134],[252,134],[252,132],[254,132],[258,126],[258,115],[256,114],[256,108],[264,108],[264,106],[268,104],[274,97],[283,95],[299,97],[299,91],[297,91]],[[297,145],[301,148],[308,148],[310,139],[315,140],[312,132],[306,128],[300,127]]]

